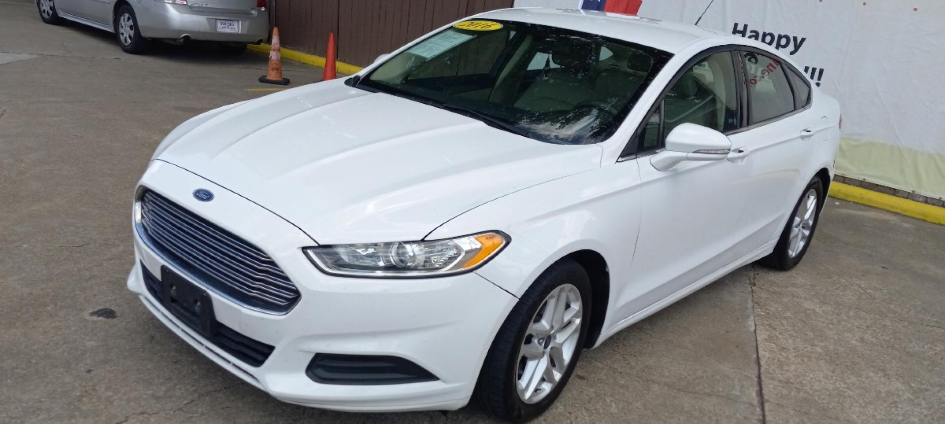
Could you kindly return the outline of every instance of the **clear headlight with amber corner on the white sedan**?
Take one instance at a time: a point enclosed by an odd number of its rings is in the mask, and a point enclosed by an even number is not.
[[[438,277],[472,271],[508,244],[498,231],[455,239],[306,247],[325,273],[375,278]]]

